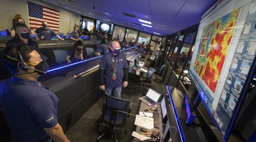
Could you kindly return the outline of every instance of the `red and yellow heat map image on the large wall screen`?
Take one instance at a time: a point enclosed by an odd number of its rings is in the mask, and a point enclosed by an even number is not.
[[[239,13],[240,8],[235,9],[203,29],[194,70],[213,93],[223,69]]]

